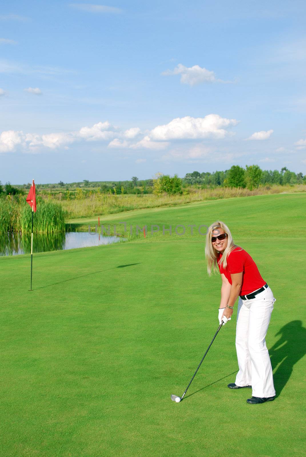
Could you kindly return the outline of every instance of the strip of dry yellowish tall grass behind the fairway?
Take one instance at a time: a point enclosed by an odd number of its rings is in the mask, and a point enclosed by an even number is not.
[[[131,211],[141,208],[166,207],[182,205],[191,202],[200,202],[204,200],[278,194],[286,192],[306,192],[306,185],[299,184],[295,186],[261,186],[258,189],[254,189],[252,191],[242,188],[225,187],[218,187],[216,189],[193,189],[190,191],[190,193],[172,196],[155,196],[153,194],[93,194],[91,197],[82,200],[62,200],[61,205],[64,208],[67,217],[70,219],[75,219],[97,215],[102,216],[104,214],[121,213],[123,211]]]

